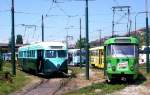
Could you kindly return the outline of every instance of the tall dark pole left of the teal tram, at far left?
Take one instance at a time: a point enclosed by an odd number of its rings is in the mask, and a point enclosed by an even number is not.
[[[12,74],[16,75],[16,63],[15,63],[15,18],[14,18],[14,0],[12,0],[11,7],[11,19],[12,19],[12,30],[11,30],[11,63],[12,63]]]

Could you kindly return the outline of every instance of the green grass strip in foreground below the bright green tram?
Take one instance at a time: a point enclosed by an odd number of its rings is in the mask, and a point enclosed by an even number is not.
[[[125,88],[127,84],[96,83],[64,95],[106,95]]]

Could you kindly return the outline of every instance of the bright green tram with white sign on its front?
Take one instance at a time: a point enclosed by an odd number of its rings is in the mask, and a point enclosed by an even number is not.
[[[104,65],[108,81],[115,78],[136,79],[138,75],[138,45],[133,37],[114,37],[105,41]]]

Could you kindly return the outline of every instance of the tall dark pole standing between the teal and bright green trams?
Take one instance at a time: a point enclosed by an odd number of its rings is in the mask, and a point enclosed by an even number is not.
[[[89,24],[88,24],[88,0],[85,7],[85,23],[86,23],[86,79],[89,80]]]

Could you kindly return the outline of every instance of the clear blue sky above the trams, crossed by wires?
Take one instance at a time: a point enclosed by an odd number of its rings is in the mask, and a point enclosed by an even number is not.
[[[81,18],[82,37],[85,37],[85,1],[84,0],[14,0],[15,35],[21,34],[24,43],[41,41],[41,16],[44,16],[45,41],[62,41],[66,35],[73,36],[71,41],[79,39]],[[150,10],[150,0],[148,0]],[[135,17],[137,29],[145,27],[145,0],[89,0],[89,40],[112,34],[112,7],[131,6],[131,31],[134,31]],[[0,42],[7,43],[11,37],[11,0],[0,0]],[[125,12],[116,12],[116,34],[127,33]],[[150,14],[149,14],[150,17]],[[121,18],[121,19],[120,19]]]

